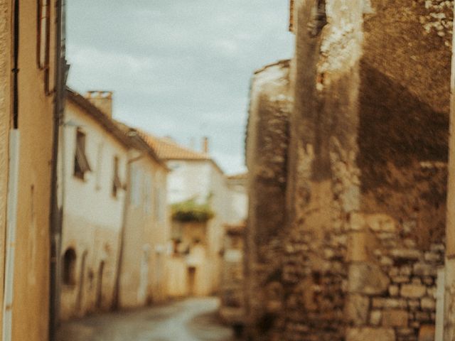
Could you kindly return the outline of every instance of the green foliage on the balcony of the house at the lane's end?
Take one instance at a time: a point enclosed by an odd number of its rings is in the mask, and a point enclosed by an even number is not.
[[[215,216],[209,202],[199,204],[196,198],[177,202],[171,206],[172,220],[178,222],[208,222]]]

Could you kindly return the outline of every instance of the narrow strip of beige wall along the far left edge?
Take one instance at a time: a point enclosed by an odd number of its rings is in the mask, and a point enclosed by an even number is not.
[[[11,119],[11,1],[0,1],[0,246],[4,250],[6,193],[8,180],[8,140]],[[0,306],[3,306],[4,251],[0,252]],[[0,332],[2,313],[0,312]]]

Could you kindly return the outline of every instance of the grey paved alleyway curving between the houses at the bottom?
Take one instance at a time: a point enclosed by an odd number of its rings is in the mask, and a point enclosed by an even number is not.
[[[218,304],[216,298],[191,298],[75,320],[60,328],[58,341],[234,341],[218,322]]]

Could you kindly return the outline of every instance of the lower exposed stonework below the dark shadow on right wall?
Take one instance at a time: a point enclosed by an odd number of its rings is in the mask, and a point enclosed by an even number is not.
[[[434,335],[446,167],[419,166],[402,170],[407,177],[395,170],[395,191],[363,195],[363,211],[350,217],[346,340],[433,340],[419,337]]]

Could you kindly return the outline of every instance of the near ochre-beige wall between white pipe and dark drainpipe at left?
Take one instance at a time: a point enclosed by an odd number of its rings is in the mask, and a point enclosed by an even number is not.
[[[13,340],[43,341],[48,337],[53,96],[45,94],[45,72],[37,67],[36,2],[21,1],[20,6],[18,125],[21,148],[11,328]],[[52,80],[55,13],[51,13],[50,23]]]

